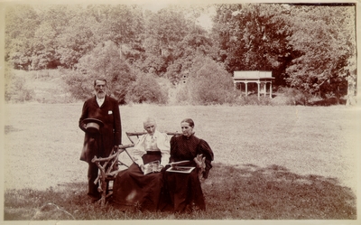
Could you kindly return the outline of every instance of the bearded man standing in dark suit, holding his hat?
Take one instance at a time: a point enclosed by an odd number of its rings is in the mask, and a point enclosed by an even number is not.
[[[118,102],[106,95],[106,80],[94,80],[95,96],[83,105],[79,127],[85,132],[80,160],[88,163],[88,195],[100,199],[97,192],[98,168],[94,156],[107,157],[122,143],[122,127]]]

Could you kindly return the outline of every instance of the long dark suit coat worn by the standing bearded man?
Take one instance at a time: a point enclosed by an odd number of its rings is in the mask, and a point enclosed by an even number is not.
[[[86,118],[97,118],[104,123],[100,127],[99,134],[89,134],[83,120]],[[83,150],[80,160],[88,163],[97,157],[107,157],[112,153],[115,145],[122,143],[122,126],[119,105],[115,98],[106,96],[103,105],[99,108],[97,98],[89,98],[83,105],[79,127],[85,131]]]

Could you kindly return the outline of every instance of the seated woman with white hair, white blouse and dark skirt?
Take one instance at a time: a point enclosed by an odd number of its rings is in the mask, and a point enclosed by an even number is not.
[[[122,210],[137,207],[156,211],[162,190],[162,168],[169,162],[170,142],[166,134],[156,130],[153,118],[146,118],[143,127],[147,134],[134,145],[134,164],[116,175],[113,199]],[[144,174],[144,164],[160,161],[158,172]]]

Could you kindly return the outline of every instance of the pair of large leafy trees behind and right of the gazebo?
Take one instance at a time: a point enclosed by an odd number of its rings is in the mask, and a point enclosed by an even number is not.
[[[272,70],[276,85],[322,98],[345,95],[347,78],[355,85],[354,6],[218,5],[217,12],[218,61],[228,71]]]

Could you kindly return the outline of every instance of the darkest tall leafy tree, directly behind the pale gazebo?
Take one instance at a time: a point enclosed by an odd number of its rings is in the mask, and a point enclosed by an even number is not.
[[[234,70],[272,70],[276,84],[291,56],[283,5],[218,5],[214,33],[219,57]]]

